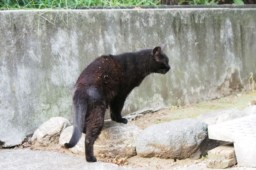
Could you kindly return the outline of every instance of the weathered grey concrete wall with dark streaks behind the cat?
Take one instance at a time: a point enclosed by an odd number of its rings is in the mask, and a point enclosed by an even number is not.
[[[0,11],[0,143],[19,144],[52,116],[72,122],[73,85],[102,54],[166,43],[171,70],[135,88],[124,114],[243,88],[256,75],[255,16],[216,8]]]

